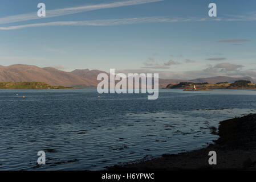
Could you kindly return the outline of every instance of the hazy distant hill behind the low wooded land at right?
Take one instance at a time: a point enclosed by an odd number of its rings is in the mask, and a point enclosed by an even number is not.
[[[233,83],[237,80],[249,80],[251,82],[256,83],[256,80],[254,80],[251,77],[228,77],[228,76],[216,76],[216,77],[209,77],[209,78],[197,78],[193,80],[189,80],[191,82],[196,82],[196,83],[202,83],[202,82],[208,82],[209,84],[216,84],[217,82],[230,82]]]

